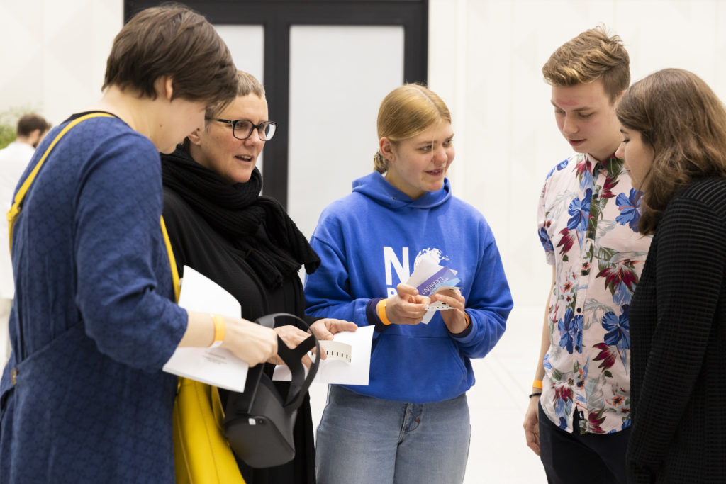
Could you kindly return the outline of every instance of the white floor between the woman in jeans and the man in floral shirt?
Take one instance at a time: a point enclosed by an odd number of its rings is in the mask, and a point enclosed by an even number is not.
[[[476,385],[467,393],[472,436],[465,484],[547,483],[522,430],[541,334],[542,308],[515,308],[492,353],[473,361]],[[326,390],[326,385],[310,390],[316,425]]]

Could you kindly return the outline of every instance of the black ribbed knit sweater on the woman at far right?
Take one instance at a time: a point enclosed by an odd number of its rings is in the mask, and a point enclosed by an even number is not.
[[[629,482],[726,483],[726,179],[669,202],[630,308]]]

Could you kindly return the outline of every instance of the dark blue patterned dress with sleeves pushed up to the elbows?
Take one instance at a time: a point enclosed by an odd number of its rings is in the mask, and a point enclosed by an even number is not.
[[[0,483],[174,482],[176,378],[161,367],[187,313],[171,302],[161,210],[158,152],[118,118],[71,129],[30,187],[13,234]]]

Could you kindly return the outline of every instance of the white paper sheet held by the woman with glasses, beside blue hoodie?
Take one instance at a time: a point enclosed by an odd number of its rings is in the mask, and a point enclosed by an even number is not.
[[[351,362],[327,358],[320,360],[314,383],[333,383],[336,385],[368,385],[370,373],[370,348],[373,341],[372,326],[344,331],[333,335],[333,341],[351,345]],[[272,380],[290,381],[290,369],[276,366]]]

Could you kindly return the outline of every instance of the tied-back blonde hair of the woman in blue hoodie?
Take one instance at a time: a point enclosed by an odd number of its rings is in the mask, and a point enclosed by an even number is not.
[[[452,122],[446,103],[431,89],[409,83],[393,89],[383,98],[378,110],[378,139],[388,138],[396,144],[423,132],[439,120]],[[373,169],[388,171],[388,160],[379,152],[373,156]]]

